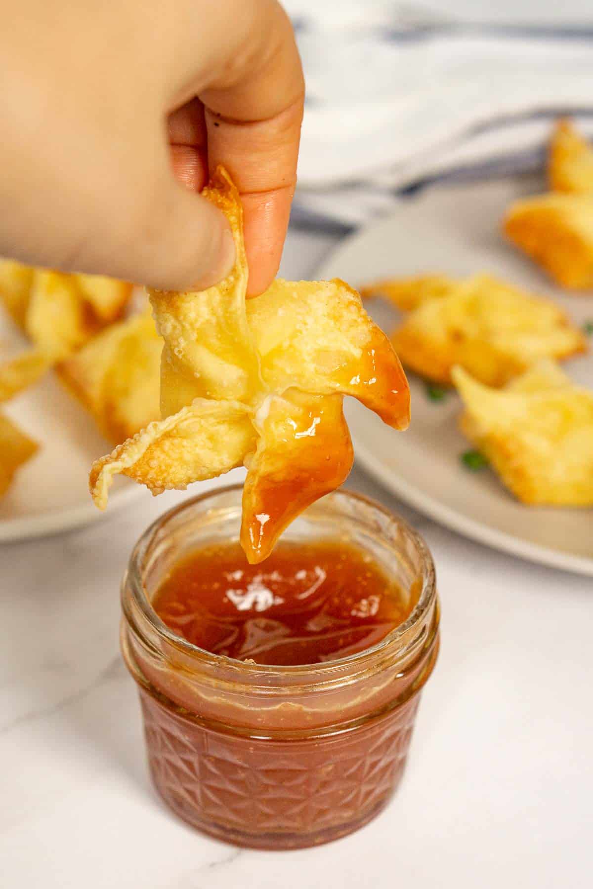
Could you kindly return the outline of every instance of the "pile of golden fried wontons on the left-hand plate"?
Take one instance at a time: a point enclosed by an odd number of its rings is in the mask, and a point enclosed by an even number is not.
[[[54,369],[114,444],[155,420],[162,340],[148,305],[126,316],[131,297],[132,284],[0,260],[0,303],[29,342],[0,352],[0,402]],[[0,496],[39,446],[0,413]]]

